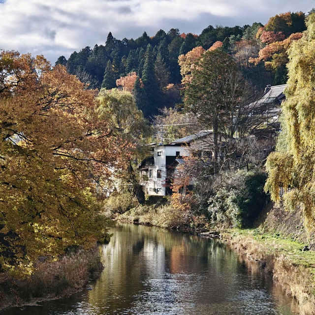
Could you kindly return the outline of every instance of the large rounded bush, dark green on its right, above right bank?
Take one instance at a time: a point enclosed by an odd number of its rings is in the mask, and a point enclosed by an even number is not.
[[[267,201],[263,190],[266,178],[258,169],[226,172],[215,183],[215,192],[208,200],[211,222],[228,227],[251,227]]]

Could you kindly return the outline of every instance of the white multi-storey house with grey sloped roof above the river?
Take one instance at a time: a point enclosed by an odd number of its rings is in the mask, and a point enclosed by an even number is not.
[[[191,149],[211,158],[212,130],[203,130],[167,144],[152,143],[151,156],[145,158],[138,170],[145,194],[165,196],[171,193],[170,184],[176,165],[183,163]]]

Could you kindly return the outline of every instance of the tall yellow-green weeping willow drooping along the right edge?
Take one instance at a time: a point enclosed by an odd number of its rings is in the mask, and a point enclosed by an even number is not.
[[[282,129],[276,152],[266,163],[265,190],[284,206],[303,210],[306,225],[315,223],[315,14],[307,18],[307,31],[288,51],[288,82],[283,103]],[[290,188],[290,189],[288,189]]]

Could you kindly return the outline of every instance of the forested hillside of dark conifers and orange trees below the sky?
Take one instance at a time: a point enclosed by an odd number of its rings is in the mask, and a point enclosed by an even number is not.
[[[71,74],[89,83],[91,88],[112,89],[117,86],[133,92],[136,103],[146,117],[158,108],[181,103],[182,75],[178,58],[193,48],[219,48],[229,53],[253,86],[262,90],[267,84],[286,82],[286,49],[305,31],[305,14],[283,13],[271,17],[263,26],[253,23],[234,27],[209,25],[201,34],[159,30],[149,37],[119,40],[109,32],[105,45],[85,47],[69,59],[58,58]],[[118,80],[118,81],[117,81]]]

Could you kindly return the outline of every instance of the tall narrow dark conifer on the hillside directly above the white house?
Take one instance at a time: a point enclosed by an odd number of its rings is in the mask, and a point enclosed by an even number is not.
[[[142,71],[142,82],[146,95],[148,96],[148,108],[147,113],[155,114],[160,100],[160,90],[158,87],[158,80],[155,75],[154,60],[152,54],[152,48],[149,44],[145,54],[145,63]]]

